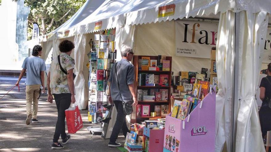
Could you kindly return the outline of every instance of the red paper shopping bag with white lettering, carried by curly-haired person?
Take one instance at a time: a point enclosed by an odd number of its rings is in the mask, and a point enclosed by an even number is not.
[[[65,110],[68,133],[74,134],[83,127],[83,121],[81,118],[78,106],[69,107]]]

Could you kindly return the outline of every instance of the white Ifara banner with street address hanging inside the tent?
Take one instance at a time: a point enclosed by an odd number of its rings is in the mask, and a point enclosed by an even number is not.
[[[176,56],[210,58],[216,46],[218,23],[175,21]]]

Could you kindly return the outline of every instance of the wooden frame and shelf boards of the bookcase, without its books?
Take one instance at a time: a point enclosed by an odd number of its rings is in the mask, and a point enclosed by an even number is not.
[[[166,101],[139,101],[139,104],[148,104],[150,105],[150,112],[154,112],[154,106],[155,105],[168,105],[169,109],[169,113],[171,111],[171,103],[170,103],[170,96],[171,96],[171,92],[170,92],[170,83],[171,83],[171,71],[172,71],[172,57],[166,57],[166,60],[170,61],[170,70],[169,71],[152,71],[152,70],[139,70],[139,63],[138,63],[138,59],[141,59],[141,57],[150,57],[150,60],[157,60],[158,56],[137,56],[135,55],[133,58],[133,65],[135,67],[135,80],[136,80],[136,84],[138,84],[138,75],[139,73],[151,73],[151,74],[155,74],[155,75],[160,75],[160,74],[167,74],[168,75],[168,85],[169,86],[137,86],[137,89],[148,89],[148,93],[150,92],[150,89],[167,89],[168,90],[168,100]],[[162,110],[162,109],[161,109]],[[164,118],[165,116],[156,116],[156,117],[137,117],[136,116],[136,108],[134,109],[134,112],[131,115],[131,123],[138,123],[139,121],[144,121],[147,120],[149,118]]]

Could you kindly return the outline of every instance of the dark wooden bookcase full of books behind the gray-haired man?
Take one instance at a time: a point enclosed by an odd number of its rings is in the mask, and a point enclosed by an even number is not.
[[[133,65],[138,105],[131,115],[131,123],[165,118],[170,112],[172,57],[135,55]]]

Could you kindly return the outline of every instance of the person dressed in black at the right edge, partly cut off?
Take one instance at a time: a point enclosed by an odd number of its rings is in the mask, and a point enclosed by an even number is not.
[[[265,142],[267,131],[271,130],[271,108],[268,106],[271,100],[271,63],[267,66],[267,74],[266,77],[262,78],[260,84],[260,99],[262,100],[262,104],[259,110],[261,132]]]

